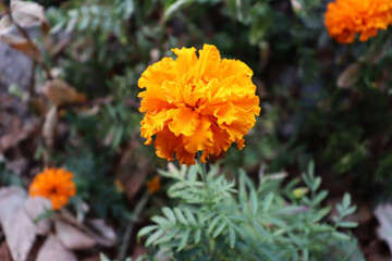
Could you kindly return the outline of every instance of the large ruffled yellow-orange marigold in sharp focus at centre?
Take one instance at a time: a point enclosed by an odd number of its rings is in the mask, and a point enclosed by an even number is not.
[[[142,97],[142,136],[146,145],[156,135],[156,153],[169,161],[174,153],[181,164],[195,164],[228,150],[232,142],[244,147],[243,136],[260,112],[252,70],[237,60],[221,59],[215,46],[172,50],[177,58],[163,58],[138,80]]]

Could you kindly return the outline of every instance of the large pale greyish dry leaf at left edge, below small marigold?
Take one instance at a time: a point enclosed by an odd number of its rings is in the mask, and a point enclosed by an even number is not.
[[[27,194],[19,187],[0,189],[0,224],[11,256],[15,261],[25,261],[36,235],[42,232],[25,211]],[[32,201],[27,202],[29,204]]]

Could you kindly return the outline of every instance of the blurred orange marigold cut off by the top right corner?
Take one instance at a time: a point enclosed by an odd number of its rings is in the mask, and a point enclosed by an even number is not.
[[[327,8],[328,33],[339,42],[351,44],[356,34],[367,41],[392,23],[392,0],[336,0]]]

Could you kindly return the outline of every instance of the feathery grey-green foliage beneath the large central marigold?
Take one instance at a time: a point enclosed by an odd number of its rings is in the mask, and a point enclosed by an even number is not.
[[[356,226],[343,221],[355,211],[350,196],[338,204],[333,224],[326,222],[330,208],[320,203],[327,191],[318,190],[321,178],[315,177],[313,164],[303,175],[310,195],[299,198],[293,196],[298,181],[281,188],[282,174],[262,176],[255,187],[241,171],[237,189],[234,181],[218,175],[217,166],[206,176],[199,165],[160,174],[174,179],[168,195],[177,203],[162,208],[163,215],[152,216],[155,224],[138,233],[148,235],[146,246],[155,246],[157,254],[168,252],[174,260],[343,260],[358,254],[355,240],[338,231]],[[331,238],[334,244],[326,246]],[[341,240],[351,243],[339,249]]]

